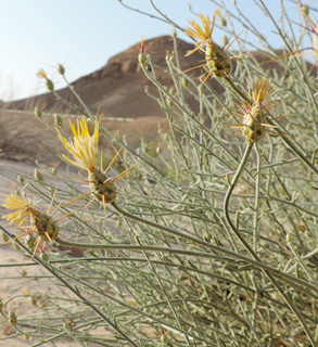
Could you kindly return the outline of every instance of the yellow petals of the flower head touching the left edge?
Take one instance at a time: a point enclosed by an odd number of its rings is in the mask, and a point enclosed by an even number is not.
[[[7,196],[5,203],[1,205],[8,209],[14,209],[15,211],[9,215],[4,215],[1,218],[7,219],[10,224],[23,226],[25,220],[31,215],[33,202],[25,201],[17,195],[11,193],[10,196]]]

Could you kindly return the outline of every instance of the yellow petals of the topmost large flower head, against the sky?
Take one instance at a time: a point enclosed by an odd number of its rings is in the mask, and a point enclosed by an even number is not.
[[[199,14],[201,22],[202,22],[202,28],[200,25],[194,21],[189,21],[189,24],[192,27],[186,28],[186,34],[194,39],[198,39],[199,42],[195,42],[196,48],[190,52],[188,52],[186,55],[190,55],[194,53],[195,51],[200,50],[205,43],[213,43],[212,41],[212,33],[214,28],[214,22],[215,16],[213,16],[213,21],[209,21],[208,15]]]

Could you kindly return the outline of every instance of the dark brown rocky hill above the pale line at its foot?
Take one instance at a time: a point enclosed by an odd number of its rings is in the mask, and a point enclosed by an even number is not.
[[[170,36],[157,37],[145,41],[144,46],[153,63],[162,68],[166,68],[165,56],[167,52],[173,52],[174,50],[173,38]],[[185,57],[186,52],[193,49],[193,44],[178,39],[177,47],[182,69],[196,66],[199,64],[198,61],[202,60],[199,53]],[[149,91],[155,95],[157,94],[156,88],[148,80],[139,66],[139,51],[140,43],[137,43],[127,51],[110,59],[107,64],[102,68],[73,82],[75,90],[93,113],[100,110],[100,113],[106,117],[128,118],[164,116],[158,104],[144,93],[144,86],[149,86]],[[168,74],[161,69],[156,73],[163,85],[167,87],[173,85],[173,80]],[[198,70],[196,75],[199,73]],[[216,88],[219,86],[216,81],[214,81],[214,85]],[[59,90],[59,93],[67,100],[75,102],[74,95],[67,88]],[[33,110],[36,104],[41,105],[44,101],[48,104],[46,111],[69,111],[61,102],[56,102],[55,97],[51,93],[14,101],[7,106],[14,110]]]

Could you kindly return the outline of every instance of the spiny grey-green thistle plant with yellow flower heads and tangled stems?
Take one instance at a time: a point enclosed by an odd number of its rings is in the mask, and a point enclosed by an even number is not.
[[[315,9],[304,12],[296,1],[302,27],[281,1],[287,30],[257,1],[281,37],[281,54],[236,1],[233,10],[211,2],[218,5],[213,17],[198,14],[182,29],[150,0],[154,20],[194,39],[186,62],[201,52],[204,61],[199,57],[196,66],[205,70],[198,79],[190,66],[181,67],[185,53],[177,34],[165,66],[154,64],[156,53],[142,41],[139,64],[157,89],[147,93],[169,125],[168,131],[158,130],[155,155],[144,141],[130,149],[72,85],[76,104],[51,88],[40,70],[58,101],[78,114],[71,120],[72,133],[62,115],[53,131],[66,151],[62,159],[87,174],[88,189],[76,183],[78,178],[65,179],[62,169],[52,174],[41,165],[54,183],[15,180],[20,194],[38,196],[50,207],[44,214],[34,201],[10,195],[3,207],[14,211],[4,219],[17,228],[29,220],[23,234],[31,232],[38,243],[51,246],[43,261],[0,227],[27,256],[12,267],[28,266],[23,281],[34,279],[30,268],[43,269],[37,283],[47,281],[56,292],[16,294],[46,303],[28,316],[15,310],[17,297],[0,297],[3,322],[11,322],[14,332],[3,340],[27,336],[31,346],[59,346],[61,340],[112,347],[318,346],[317,76],[298,54],[307,35],[315,40],[307,27],[317,28]],[[252,28],[250,36],[241,38],[233,29],[238,24]],[[218,31],[234,42],[221,48]],[[257,40],[277,69],[257,61]],[[158,69],[171,77],[170,85],[163,83],[167,79],[158,77]],[[67,70],[62,65],[58,70],[67,81]],[[221,93],[212,88],[212,79]],[[106,146],[116,153],[107,160]],[[1,175],[8,172],[1,167]],[[81,249],[80,257],[67,253],[74,247]]]

